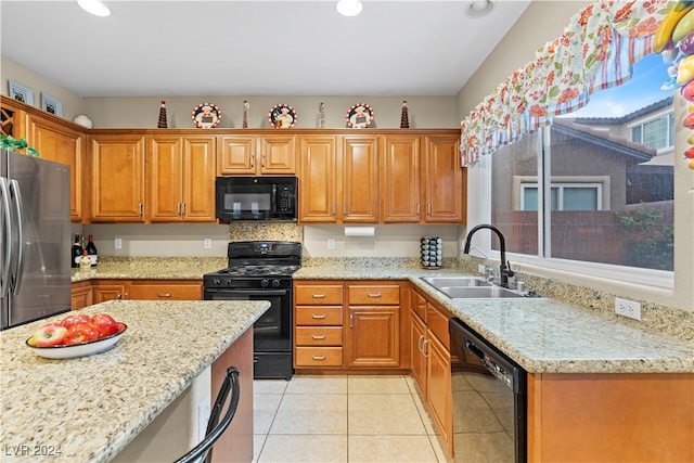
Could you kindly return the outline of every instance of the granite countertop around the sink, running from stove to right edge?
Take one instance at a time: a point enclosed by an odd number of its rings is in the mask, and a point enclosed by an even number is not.
[[[305,266],[295,280],[409,280],[529,373],[693,373],[694,345],[550,298],[450,299],[421,276],[465,273],[350,262]],[[532,288],[527,288],[532,290]]]

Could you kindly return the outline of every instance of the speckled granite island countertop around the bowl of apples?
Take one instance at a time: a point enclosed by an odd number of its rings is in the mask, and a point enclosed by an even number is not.
[[[128,330],[111,350],[65,360],[43,359],[24,344],[37,327],[64,316],[0,332],[2,461],[110,461],[268,307],[211,300],[98,304],[81,311],[110,313]],[[196,326],[204,326],[204,336]],[[40,449],[61,454],[41,455]],[[21,451],[25,455],[15,456]]]

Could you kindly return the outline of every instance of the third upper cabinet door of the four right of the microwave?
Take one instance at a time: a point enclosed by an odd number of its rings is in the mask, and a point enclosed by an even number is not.
[[[383,223],[420,221],[420,145],[417,136],[383,137],[381,152],[381,220]]]

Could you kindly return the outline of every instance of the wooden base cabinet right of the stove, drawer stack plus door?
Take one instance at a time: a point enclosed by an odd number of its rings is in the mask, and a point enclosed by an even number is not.
[[[294,368],[409,368],[409,346],[402,343],[408,287],[398,281],[295,280]]]

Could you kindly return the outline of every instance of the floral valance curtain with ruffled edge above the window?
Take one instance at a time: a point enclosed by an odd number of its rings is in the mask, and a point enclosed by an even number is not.
[[[597,0],[575,14],[564,34],[537,51],[461,123],[463,164],[576,111],[591,93],[631,78],[652,53],[670,0]]]

